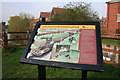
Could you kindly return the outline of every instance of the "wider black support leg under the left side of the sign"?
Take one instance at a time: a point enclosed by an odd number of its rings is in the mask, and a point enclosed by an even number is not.
[[[46,80],[46,67],[38,65],[38,80]]]

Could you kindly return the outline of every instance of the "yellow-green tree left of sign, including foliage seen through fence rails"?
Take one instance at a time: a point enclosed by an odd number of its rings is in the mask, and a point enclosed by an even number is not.
[[[34,17],[30,14],[26,13],[20,13],[19,16],[12,16],[10,17],[10,20],[8,21],[9,27],[8,31],[27,31],[30,27],[30,21],[33,20]],[[25,38],[26,35],[24,34],[12,34],[10,35],[11,38]],[[21,43],[25,44],[25,41],[14,41],[13,43]]]

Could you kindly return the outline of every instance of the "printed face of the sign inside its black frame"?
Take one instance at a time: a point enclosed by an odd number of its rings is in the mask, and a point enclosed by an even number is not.
[[[95,25],[40,25],[27,58],[97,65]]]

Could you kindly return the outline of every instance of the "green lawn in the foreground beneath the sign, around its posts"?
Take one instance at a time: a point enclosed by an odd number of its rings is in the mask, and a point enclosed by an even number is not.
[[[19,63],[23,51],[24,47],[11,48],[8,55],[2,55],[3,78],[38,78],[36,65]],[[48,79],[81,78],[81,70],[46,67],[46,74]],[[88,71],[87,77],[119,79],[120,69],[104,63],[104,72]]]

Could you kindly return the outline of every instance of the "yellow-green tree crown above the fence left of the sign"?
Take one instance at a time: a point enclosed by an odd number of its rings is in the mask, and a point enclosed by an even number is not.
[[[20,13],[19,16],[10,17],[9,31],[27,31],[29,30],[30,21],[33,19],[33,16],[26,13]]]

